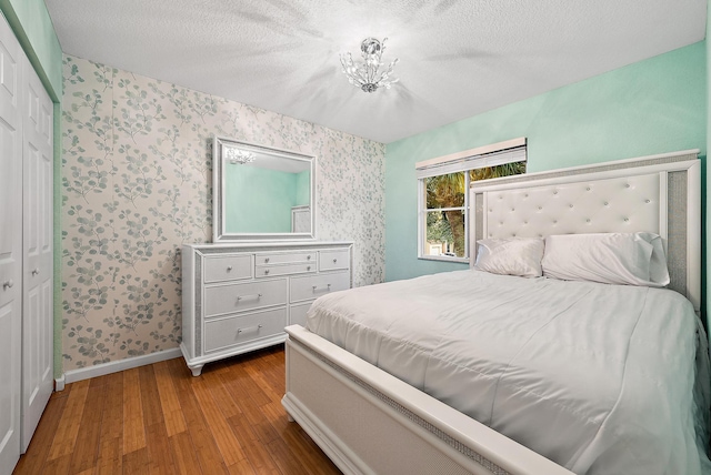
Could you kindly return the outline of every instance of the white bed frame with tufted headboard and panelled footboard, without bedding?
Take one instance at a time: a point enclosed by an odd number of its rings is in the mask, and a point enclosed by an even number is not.
[[[665,245],[669,286],[699,313],[698,153],[473,183],[470,249],[484,236],[654,232]],[[346,474],[571,474],[299,325],[287,333],[282,404]]]

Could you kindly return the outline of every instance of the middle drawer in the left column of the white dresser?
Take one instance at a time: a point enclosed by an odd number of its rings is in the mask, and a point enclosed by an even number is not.
[[[287,303],[287,280],[213,285],[204,290],[204,316]]]

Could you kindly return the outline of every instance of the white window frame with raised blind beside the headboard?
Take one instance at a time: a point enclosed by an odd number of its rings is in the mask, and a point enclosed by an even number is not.
[[[513,152],[513,153],[509,153]],[[523,153],[521,160],[520,153]],[[501,158],[507,153],[511,156],[519,156],[515,160],[508,160],[501,162]],[[518,153],[518,155],[517,155]],[[499,158],[498,160],[495,158]],[[493,160],[492,160],[493,159]],[[492,163],[493,162],[493,163]],[[525,162],[528,166],[528,151],[525,138],[519,138],[509,140],[505,142],[499,142],[491,145],[480,146],[477,149],[465,150],[450,155],[431,159],[424,162],[418,162],[415,164],[418,175],[418,259],[424,261],[440,261],[440,262],[457,262],[457,263],[470,263],[472,252],[470,247],[470,211],[471,203],[469,202],[469,188],[471,184],[470,171],[483,169],[488,166],[497,166],[504,163],[518,163]],[[437,173],[441,171],[441,173]],[[450,173],[464,173],[464,202],[462,206],[453,208],[427,208],[427,179],[431,176],[440,176]],[[490,179],[489,179],[490,180]],[[464,215],[464,255],[450,256],[450,255],[430,255],[425,254],[427,243],[427,216],[428,213],[443,212],[450,210],[462,210]]]

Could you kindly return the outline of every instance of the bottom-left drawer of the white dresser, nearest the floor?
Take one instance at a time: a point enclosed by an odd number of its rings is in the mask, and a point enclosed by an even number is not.
[[[283,333],[287,309],[213,319],[204,324],[204,350],[214,352],[240,343]]]

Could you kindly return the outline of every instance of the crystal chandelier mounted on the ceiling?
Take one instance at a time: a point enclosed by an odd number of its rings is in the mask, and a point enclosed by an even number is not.
[[[380,61],[382,52],[385,50],[385,41],[382,42],[374,38],[365,38],[360,44],[360,51],[363,55],[364,63],[353,62],[351,53],[341,54],[341,64],[343,73],[348,77],[348,82],[365,92],[374,92],[378,88],[390,89],[391,84],[399,81],[397,78],[390,78],[392,68],[398,63],[395,58],[384,72],[379,72],[383,63]]]

